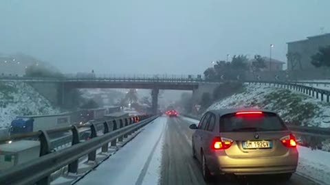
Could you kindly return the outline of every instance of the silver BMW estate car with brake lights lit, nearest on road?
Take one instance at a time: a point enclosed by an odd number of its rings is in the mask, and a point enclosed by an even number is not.
[[[192,124],[192,156],[204,180],[212,175],[276,174],[289,180],[296,171],[296,138],[275,112],[212,110]]]

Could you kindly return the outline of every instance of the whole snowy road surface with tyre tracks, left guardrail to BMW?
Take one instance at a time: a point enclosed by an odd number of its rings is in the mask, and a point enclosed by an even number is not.
[[[206,184],[201,167],[191,155],[193,119],[159,117],[78,184]],[[322,154],[322,153],[321,153]],[[270,176],[245,180],[217,177],[210,184],[283,184]],[[294,174],[286,184],[316,184]]]

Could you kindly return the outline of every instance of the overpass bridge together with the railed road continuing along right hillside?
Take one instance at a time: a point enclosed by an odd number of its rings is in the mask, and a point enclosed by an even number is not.
[[[54,105],[64,108],[71,108],[74,105],[76,88],[145,88],[151,89],[152,105],[154,113],[157,111],[157,101],[159,90],[192,90],[193,95],[201,95],[204,92],[212,92],[217,85],[224,82],[233,82],[226,80],[217,80],[210,82],[202,79],[200,75],[188,76],[133,76],[133,77],[17,77],[0,76],[0,82],[25,82],[35,88],[41,95],[49,99]],[[238,80],[234,81],[238,82]],[[318,86],[327,86],[329,82],[298,82],[287,80],[262,81],[262,80],[241,80],[240,82],[249,84],[268,84],[280,88],[289,88],[298,90],[301,93],[310,95],[321,101],[330,100],[330,90],[322,89]],[[314,87],[316,85],[316,87]]]

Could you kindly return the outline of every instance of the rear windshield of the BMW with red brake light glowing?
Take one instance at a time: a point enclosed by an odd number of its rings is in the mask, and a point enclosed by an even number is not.
[[[283,121],[274,113],[226,114],[220,119],[220,132],[258,132],[287,130]]]

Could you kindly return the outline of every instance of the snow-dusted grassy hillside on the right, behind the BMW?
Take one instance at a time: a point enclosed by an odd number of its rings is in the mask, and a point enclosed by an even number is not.
[[[208,110],[243,107],[276,111],[285,121],[296,125],[330,127],[330,103],[293,90],[270,86],[246,85],[242,93],[222,99]]]

